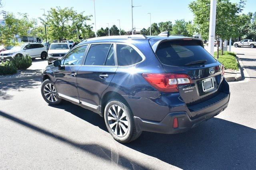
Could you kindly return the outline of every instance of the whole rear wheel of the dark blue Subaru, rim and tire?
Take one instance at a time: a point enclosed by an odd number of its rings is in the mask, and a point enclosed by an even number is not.
[[[104,119],[109,133],[121,143],[137,139],[142,132],[137,132],[133,114],[121,100],[110,100],[104,110]]]

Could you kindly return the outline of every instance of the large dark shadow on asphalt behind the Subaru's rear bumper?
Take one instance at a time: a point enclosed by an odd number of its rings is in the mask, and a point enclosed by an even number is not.
[[[218,118],[180,134],[143,132],[126,146],[182,169],[256,167],[256,129]]]

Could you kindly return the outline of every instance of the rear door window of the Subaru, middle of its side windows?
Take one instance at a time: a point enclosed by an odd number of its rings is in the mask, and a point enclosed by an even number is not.
[[[103,66],[111,44],[91,45],[86,57],[85,65]]]

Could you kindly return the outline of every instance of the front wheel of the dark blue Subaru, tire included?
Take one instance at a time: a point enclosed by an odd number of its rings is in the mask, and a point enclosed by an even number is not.
[[[58,98],[57,90],[53,82],[49,79],[44,80],[41,85],[41,94],[44,100],[50,105],[58,105],[62,99]]]

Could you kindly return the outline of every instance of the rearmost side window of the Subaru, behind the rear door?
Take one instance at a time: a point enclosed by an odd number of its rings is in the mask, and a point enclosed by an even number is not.
[[[128,66],[142,61],[142,57],[129,45],[116,45],[118,65]]]

